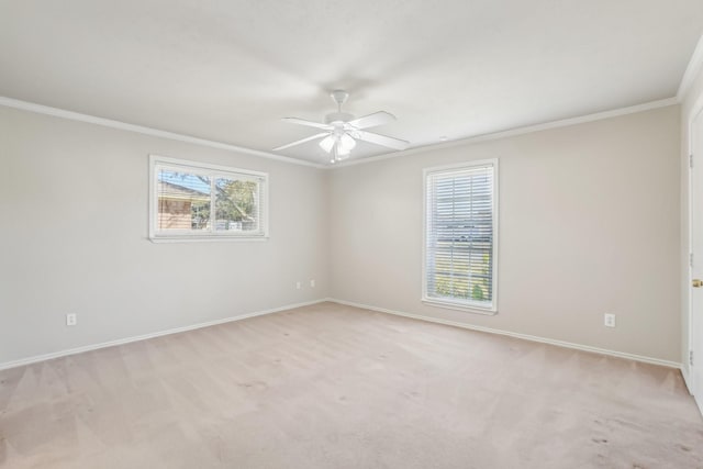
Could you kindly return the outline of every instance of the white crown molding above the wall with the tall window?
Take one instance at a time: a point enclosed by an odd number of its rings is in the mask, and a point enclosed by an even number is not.
[[[674,105],[678,103],[679,101],[676,97],[660,99],[658,101],[650,101],[650,102],[645,102],[643,104],[631,105],[627,108],[620,108],[620,109],[613,109],[610,111],[596,112],[594,114],[587,114],[578,118],[545,122],[543,124],[526,125],[524,127],[515,127],[506,131],[500,131],[500,132],[483,134],[483,135],[476,135],[476,136],[470,136],[470,137],[445,142],[445,143],[415,146],[402,152],[384,153],[382,155],[370,156],[368,158],[359,158],[359,159],[349,158],[349,159],[345,159],[344,161],[337,163],[334,166],[325,166],[325,168],[327,169],[345,168],[347,166],[361,165],[365,163],[373,163],[382,159],[398,158],[401,156],[415,155],[417,153],[424,153],[424,152],[431,152],[431,150],[437,150],[437,149],[444,149],[444,148],[453,148],[456,146],[471,145],[480,142],[506,138],[506,137],[512,137],[512,136],[523,135],[523,134],[532,134],[535,132],[547,131],[550,129],[567,127],[570,125],[583,124],[587,122],[602,121],[604,119],[617,118],[617,116],[627,115],[627,114],[635,114],[637,112],[666,108],[668,105]]]

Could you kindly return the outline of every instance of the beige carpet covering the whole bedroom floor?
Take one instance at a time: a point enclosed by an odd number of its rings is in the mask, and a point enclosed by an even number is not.
[[[332,303],[0,371],[3,468],[703,468],[678,370]]]

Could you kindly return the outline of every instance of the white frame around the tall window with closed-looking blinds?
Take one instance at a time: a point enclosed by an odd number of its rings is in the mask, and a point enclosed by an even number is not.
[[[473,169],[477,167],[491,166],[493,168],[493,199],[492,199],[492,230],[493,230],[493,243],[492,243],[492,292],[490,306],[481,305],[471,300],[444,300],[428,297],[427,294],[427,238],[428,238],[428,223],[427,216],[429,214],[429,206],[427,201],[428,178],[433,174],[437,172],[453,172],[467,169]],[[465,311],[475,314],[495,315],[498,314],[498,255],[499,255],[499,160],[498,158],[490,159],[476,159],[471,161],[457,163],[451,165],[434,166],[429,168],[423,168],[423,238],[422,238],[422,302],[432,306]]]

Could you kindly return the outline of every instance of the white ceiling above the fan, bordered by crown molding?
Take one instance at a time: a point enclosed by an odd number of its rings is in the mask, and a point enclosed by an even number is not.
[[[701,0],[7,0],[0,96],[270,152],[344,88],[416,147],[673,97],[702,32]]]

